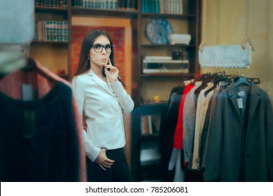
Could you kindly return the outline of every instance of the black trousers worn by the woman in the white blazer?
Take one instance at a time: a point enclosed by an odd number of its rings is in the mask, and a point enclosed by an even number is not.
[[[106,151],[107,158],[115,162],[104,171],[97,162],[86,158],[87,181],[89,182],[132,182],[132,174],[128,166],[123,148]]]

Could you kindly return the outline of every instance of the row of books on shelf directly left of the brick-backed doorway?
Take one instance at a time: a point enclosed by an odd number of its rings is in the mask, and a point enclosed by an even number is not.
[[[67,21],[35,21],[34,41],[67,42],[68,34]]]

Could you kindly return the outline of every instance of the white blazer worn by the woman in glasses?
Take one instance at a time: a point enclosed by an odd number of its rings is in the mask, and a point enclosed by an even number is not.
[[[123,113],[134,109],[134,102],[120,81],[107,84],[91,69],[72,80],[80,114],[84,114],[87,130],[83,139],[87,157],[94,162],[101,148],[125,146]]]

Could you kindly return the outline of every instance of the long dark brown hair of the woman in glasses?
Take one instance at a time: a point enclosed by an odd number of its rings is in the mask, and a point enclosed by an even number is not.
[[[99,36],[106,36],[106,38],[109,39],[110,44],[113,45],[112,38],[106,31],[102,31],[102,30],[90,31],[90,33],[85,36],[85,38],[83,39],[83,43],[81,44],[80,58],[78,60],[78,68],[72,78],[74,78],[75,76],[78,76],[82,73],[85,73],[86,71],[88,71],[91,68],[90,60],[89,60],[90,48],[91,48],[91,45],[94,44],[94,41]],[[112,65],[115,66],[114,51],[111,52],[111,55],[109,58],[111,60]],[[105,72],[104,72],[104,68],[102,69],[102,76],[106,76]],[[118,80],[120,80],[120,77],[118,77]],[[122,80],[120,80],[120,82],[123,83]],[[123,83],[123,86],[125,86],[125,83]]]

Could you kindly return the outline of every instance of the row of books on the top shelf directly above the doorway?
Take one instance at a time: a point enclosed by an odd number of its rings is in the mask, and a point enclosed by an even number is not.
[[[137,0],[74,0],[73,6],[101,9],[137,9]]]

